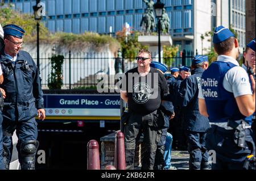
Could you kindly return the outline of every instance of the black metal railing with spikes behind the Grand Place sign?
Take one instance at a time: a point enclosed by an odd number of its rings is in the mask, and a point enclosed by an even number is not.
[[[197,54],[197,53],[196,53]],[[61,89],[92,89],[101,81],[101,76],[124,73],[135,68],[134,56],[113,57],[112,53],[72,53],[61,54],[63,62],[63,86]],[[36,60],[36,54],[31,54]],[[162,56],[161,62],[170,67],[190,66],[195,54],[185,50]],[[40,54],[40,77],[43,89],[48,89],[48,77],[51,74],[52,54]],[[158,61],[158,54],[152,53],[152,61]]]

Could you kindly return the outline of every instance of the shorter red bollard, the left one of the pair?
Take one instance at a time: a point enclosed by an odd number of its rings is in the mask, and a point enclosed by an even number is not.
[[[90,140],[87,144],[87,170],[101,170],[98,142]]]

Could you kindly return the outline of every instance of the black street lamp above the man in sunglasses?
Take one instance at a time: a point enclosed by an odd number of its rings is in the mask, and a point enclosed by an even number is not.
[[[161,41],[160,41],[161,24],[160,24],[160,18],[162,18],[162,16],[163,16],[163,8],[164,8],[164,3],[160,2],[160,0],[158,0],[154,4],[155,15],[156,15],[156,18],[158,19],[158,58],[159,58],[158,61],[159,62],[161,62]]]

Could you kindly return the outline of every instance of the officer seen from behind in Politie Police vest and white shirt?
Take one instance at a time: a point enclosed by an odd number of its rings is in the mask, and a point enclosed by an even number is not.
[[[211,125],[206,146],[216,153],[212,169],[248,169],[255,145],[245,117],[255,111],[255,81],[239,66],[238,40],[228,28],[215,28],[213,45],[218,58],[204,71],[199,92],[200,113]]]

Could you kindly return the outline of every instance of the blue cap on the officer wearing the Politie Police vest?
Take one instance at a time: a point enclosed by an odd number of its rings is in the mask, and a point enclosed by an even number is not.
[[[214,30],[213,43],[221,43],[231,36],[234,36],[234,34],[228,28],[218,26]]]

